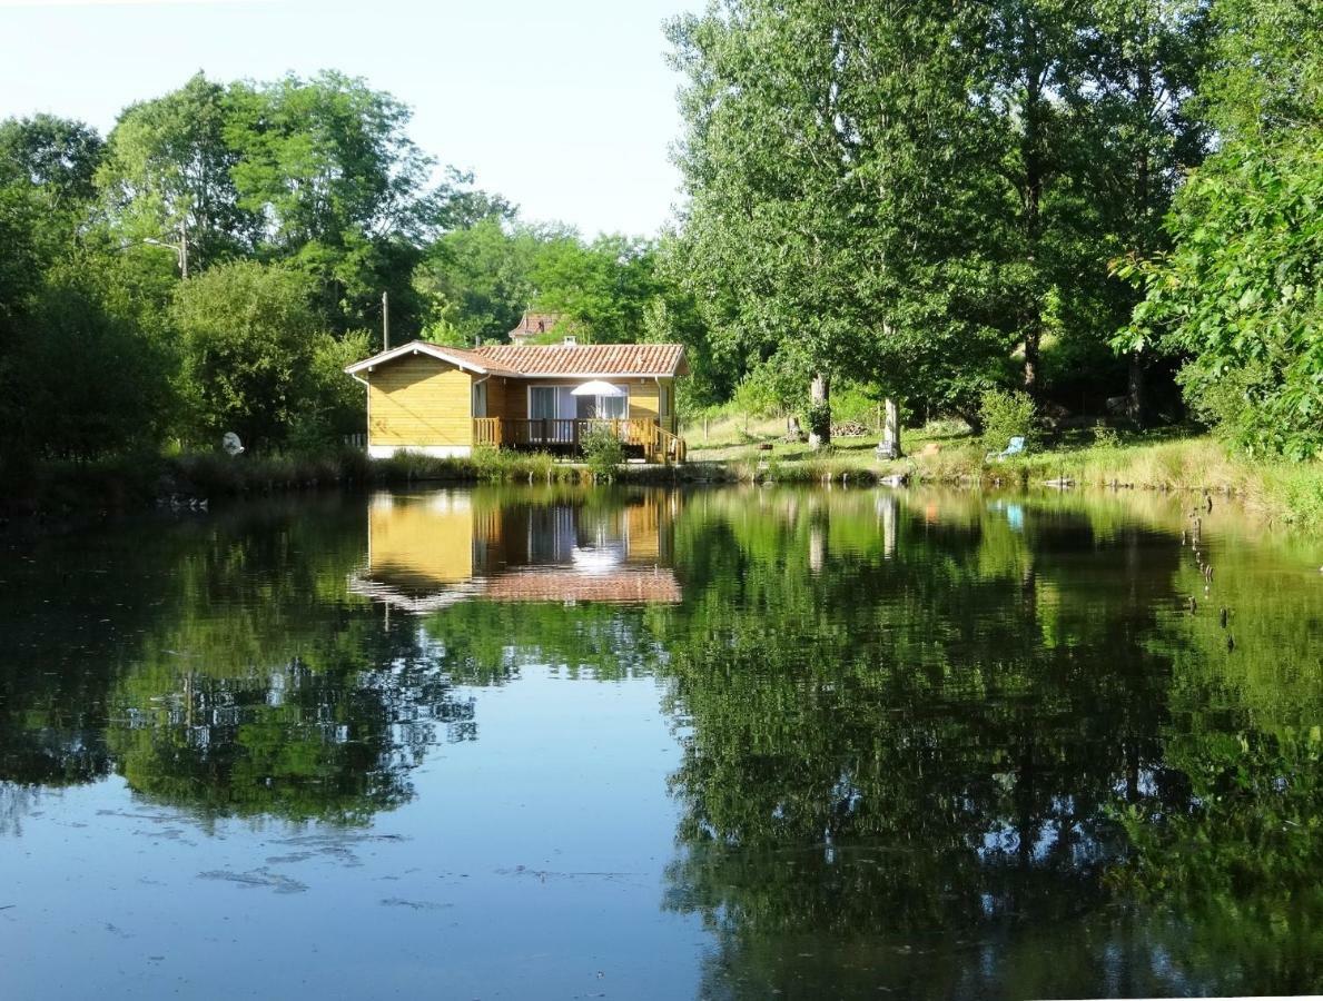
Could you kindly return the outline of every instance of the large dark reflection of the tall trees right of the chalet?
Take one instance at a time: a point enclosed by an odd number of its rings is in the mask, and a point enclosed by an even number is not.
[[[806,505],[689,509],[668,906],[718,936],[705,996],[1316,982],[1299,956],[1261,961],[1282,949],[1200,959],[1160,906],[1140,918],[1115,893],[1126,860],[1174,852],[1146,852],[1125,811],[1188,808],[1209,764],[1174,754],[1171,661],[1143,644],[1175,599],[1170,541],[909,517],[888,554],[859,513]]]

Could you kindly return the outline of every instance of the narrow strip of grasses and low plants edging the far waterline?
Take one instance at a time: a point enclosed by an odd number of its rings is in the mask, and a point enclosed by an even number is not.
[[[361,448],[314,454],[119,456],[42,463],[0,476],[0,517],[65,517],[147,508],[208,509],[214,501],[328,488],[407,487],[421,483],[591,484],[943,484],[968,488],[1057,487],[1192,491],[1236,496],[1254,516],[1323,530],[1323,463],[1236,458],[1211,438],[1155,443],[1097,443],[1029,451],[988,460],[978,440],[890,461],[871,451],[773,452],[701,459],[683,465],[638,465],[614,455],[566,463],[545,452],[479,450],[437,459],[400,452],[369,459]]]

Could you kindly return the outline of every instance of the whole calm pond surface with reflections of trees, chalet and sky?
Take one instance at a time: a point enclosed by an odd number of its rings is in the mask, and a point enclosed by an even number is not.
[[[11,528],[0,993],[1323,992],[1323,545],[1195,502]]]

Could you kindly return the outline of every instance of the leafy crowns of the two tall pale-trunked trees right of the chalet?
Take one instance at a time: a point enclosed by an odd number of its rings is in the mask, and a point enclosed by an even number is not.
[[[974,410],[1008,353],[996,134],[970,99],[988,32],[982,9],[812,0],[671,25],[689,290],[722,354]]]

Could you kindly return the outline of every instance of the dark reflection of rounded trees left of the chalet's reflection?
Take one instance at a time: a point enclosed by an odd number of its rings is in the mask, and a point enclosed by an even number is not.
[[[359,504],[280,506],[108,549],[114,574],[89,567],[64,618],[46,614],[30,652],[0,664],[15,723],[0,727],[0,778],[114,770],[204,815],[361,821],[407,799],[430,742],[472,739],[474,706],[415,624],[385,629],[347,599],[360,517]],[[73,559],[50,550],[48,563]],[[65,599],[34,583],[33,603]],[[69,656],[83,607],[126,611]],[[30,669],[42,661],[61,669]]]

